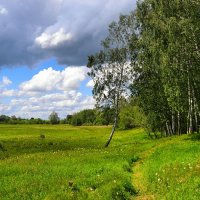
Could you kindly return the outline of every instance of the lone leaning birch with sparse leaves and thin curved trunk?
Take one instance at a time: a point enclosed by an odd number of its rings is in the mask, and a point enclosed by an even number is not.
[[[111,107],[115,111],[114,124],[108,147],[114,135],[120,112],[120,101],[129,96],[133,72],[130,43],[136,39],[134,13],[121,15],[118,22],[109,26],[108,37],[102,41],[102,50],[88,57],[89,76],[94,81],[93,96],[97,107]]]

